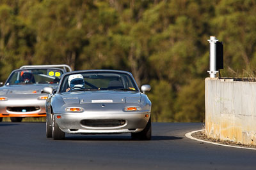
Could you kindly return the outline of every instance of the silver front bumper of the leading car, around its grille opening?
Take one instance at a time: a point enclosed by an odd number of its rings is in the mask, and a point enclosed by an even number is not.
[[[148,117],[146,117],[146,115]],[[57,118],[57,116],[59,116]],[[61,116],[61,118],[60,118]],[[54,114],[61,131],[72,134],[115,134],[140,132],[145,129],[150,113],[63,113]],[[125,120],[117,127],[88,127],[81,120]]]

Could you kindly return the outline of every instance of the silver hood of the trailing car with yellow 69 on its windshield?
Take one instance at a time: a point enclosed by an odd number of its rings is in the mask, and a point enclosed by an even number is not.
[[[0,88],[0,95],[10,94],[38,94],[44,87],[56,89],[57,85],[33,84],[33,85],[8,85]]]

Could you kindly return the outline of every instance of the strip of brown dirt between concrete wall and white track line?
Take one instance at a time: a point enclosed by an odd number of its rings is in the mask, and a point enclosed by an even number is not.
[[[240,147],[244,147],[244,148],[255,148],[256,149],[255,145],[244,145],[244,144],[236,143],[236,142],[233,142],[233,141],[222,141],[220,139],[208,138],[205,135],[205,131],[200,131],[200,132],[193,133],[193,134],[191,134],[191,136],[193,136],[194,138],[197,138],[197,139],[204,140],[204,141],[211,141],[211,142],[214,142],[214,143],[221,143],[223,145],[232,145],[232,146],[240,146]]]

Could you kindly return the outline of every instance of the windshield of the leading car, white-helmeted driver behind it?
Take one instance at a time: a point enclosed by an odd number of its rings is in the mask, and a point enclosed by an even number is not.
[[[117,72],[68,74],[61,81],[60,92],[87,90],[138,91],[138,88],[129,74]]]

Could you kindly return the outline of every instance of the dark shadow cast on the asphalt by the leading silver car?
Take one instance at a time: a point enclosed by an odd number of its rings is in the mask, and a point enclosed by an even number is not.
[[[151,141],[171,141],[182,139],[175,136],[152,136]],[[69,141],[140,141],[131,139],[131,136],[66,136]]]

